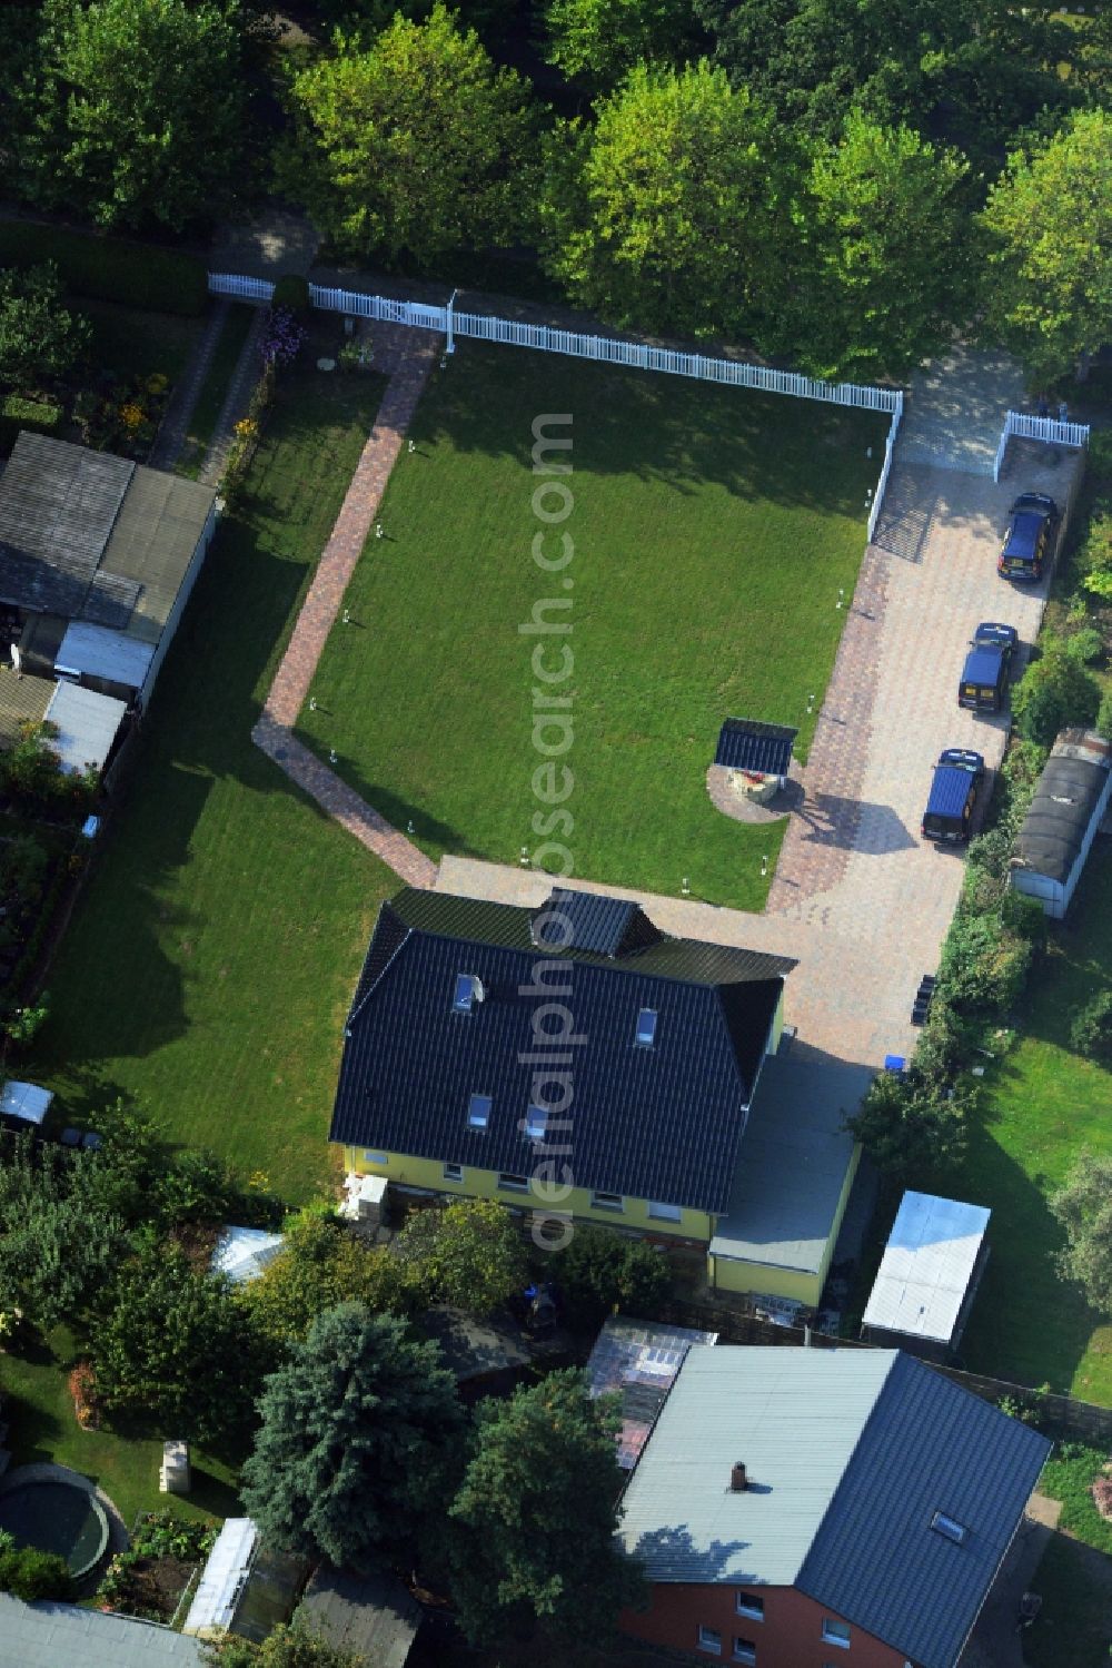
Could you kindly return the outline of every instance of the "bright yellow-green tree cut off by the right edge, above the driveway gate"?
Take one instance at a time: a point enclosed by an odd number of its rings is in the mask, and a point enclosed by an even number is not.
[[[989,329],[1039,382],[1084,372],[1112,334],[1112,113],[1014,152],[982,225]]]

